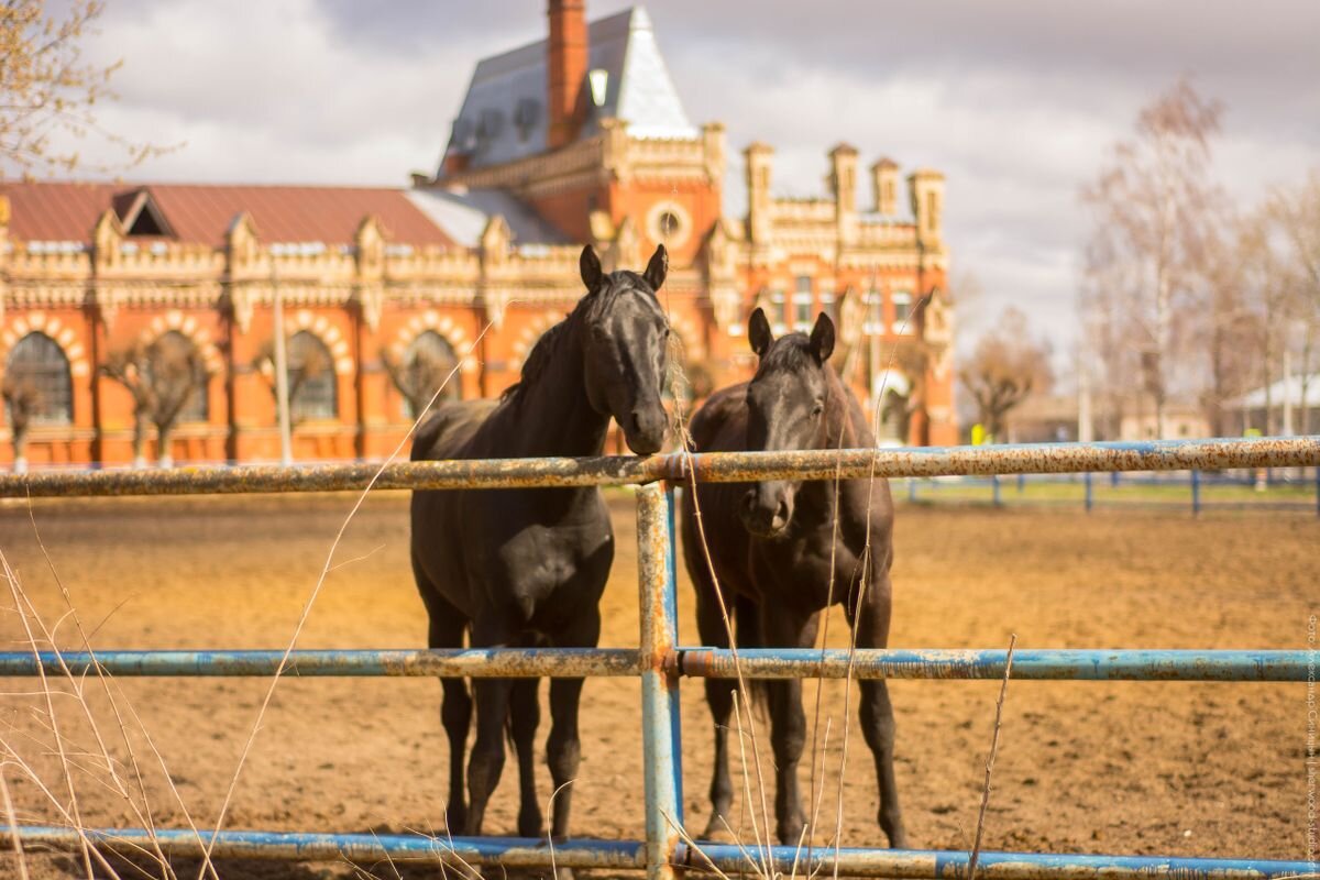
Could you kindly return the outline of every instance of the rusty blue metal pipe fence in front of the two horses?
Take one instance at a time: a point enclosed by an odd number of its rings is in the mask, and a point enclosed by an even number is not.
[[[170,471],[91,471],[0,476],[0,497],[91,495],[201,495],[216,492],[325,492],[376,488],[499,488],[523,486],[623,486],[638,489],[640,641],[631,649],[297,650],[289,677],[326,676],[636,676],[642,679],[645,763],[644,840],[576,839],[553,844],[554,863],[573,868],[645,869],[669,879],[685,869],[803,873],[837,868],[847,876],[944,880],[965,877],[969,854],[685,843],[680,765],[678,683],[682,677],[747,678],[1001,678],[1002,650],[730,650],[677,645],[673,496],[657,480],[858,479],[876,476],[1170,471],[1320,464],[1320,437],[1150,443],[1051,443],[1040,446],[807,453],[721,453],[651,459],[508,459],[409,462],[384,468],[342,464],[310,468],[238,467]],[[690,466],[690,472],[689,472]],[[380,471],[379,479],[372,482]],[[0,653],[0,677],[271,676],[284,652],[25,652]],[[735,668],[735,662],[738,666]],[[1307,681],[1315,657],[1305,650],[1018,650],[1012,677],[1064,681]],[[20,826],[0,839],[77,846],[86,835],[117,851],[154,847],[198,855],[202,839],[183,830]],[[203,831],[205,839],[210,838]],[[408,859],[449,865],[549,867],[543,839],[429,838],[424,835],[281,834],[220,831],[216,856],[296,860]],[[768,860],[763,864],[760,860]],[[752,862],[756,860],[756,862]],[[982,852],[978,873],[990,880],[1251,880],[1315,872],[1309,862],[1175,859],[1064,854]]]

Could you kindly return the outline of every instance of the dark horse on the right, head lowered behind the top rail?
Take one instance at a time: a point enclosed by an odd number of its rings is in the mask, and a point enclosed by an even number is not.
[[[826,363],[834,348],[829,317],[820,315],[810,336],[795,332],[775,339],[766,314],[756,309],[747,332],[760,358],[756,375],[750,383],[717,392],[696,413],[690,430],[697,451],[836,449],[841,437],[845,447],[874,446],[857,398]],[[810,648],[820,612],[832,602],[843,603],[859,648],[886,645],[894,558],[888,482],[842,480],[837,497],[833,480],[766,480],[751,488],[702,483],[696,500],[710,565],[701,550],[690,493],[684,496],[681,528],[688,574],[697,591],[701,644],[729,646],[710,575],[713,566],[718,590],[737,621],[739,646]],[[871,549],[863,553],[867,534]],[[708,836],[719,830],[721,817],[733,822],[727,726],[735,687],[729,679],[706,681],[706,702],[715,722]],[[894,786],[894,708],[883,681],[863,681],[861,691],[862,731],[879,782],[879,823],[890,846],[903,847]],[[766,698],[777,770],[776,830],[780,842],[795,846],[804,826],[797,792],[797,761],[807,739],[801,682],[766,682]]]

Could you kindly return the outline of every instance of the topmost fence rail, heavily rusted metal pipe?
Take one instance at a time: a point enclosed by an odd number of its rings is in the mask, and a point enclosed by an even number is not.
[[[1028,443],[795,453],[669,454],[652,458],[539,458],[308,467],[33,471],[0,475],[0,497],[230,495],[364,489],[465,489],[630,486],[686,480],[990,476],[1109,471],[1185,471],[1320,466],[1320,435],[1140,443]]]

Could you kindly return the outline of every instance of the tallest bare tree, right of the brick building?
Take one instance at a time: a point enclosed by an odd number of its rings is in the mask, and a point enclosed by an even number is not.
[[[1187,79],[1144,107],[1135,139],[1114,145],[1109,165],[1082,190],[1094,212],[1086,247],[1084,326],[1101,377],[1139,387],[1166,435],[1164,408],[1177,384],[1176,346],[1201,286],[1222,195],[1210,182],[1210,140],[1222,107]],[[1133,380],[1137,380],[1133,383]]]

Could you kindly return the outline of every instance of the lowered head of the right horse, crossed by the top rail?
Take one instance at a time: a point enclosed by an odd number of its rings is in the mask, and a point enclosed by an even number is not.
[[[747,449],[828,449],[834,322],[821,314],[808,336],[792,332],[775,339],[760,309],[747,325],[747,339],[760,363],[747,384]],[[747,489],[738,508],[743,525],[758,537],[788,528],[801,480],[762,480]]]

